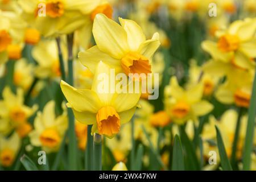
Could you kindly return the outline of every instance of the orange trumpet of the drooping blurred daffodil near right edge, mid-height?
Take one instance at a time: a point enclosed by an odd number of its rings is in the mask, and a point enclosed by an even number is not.
[[[244,90],[238,89],[234,93],[234,102],[237,106],[249,107],[251,95]]]

